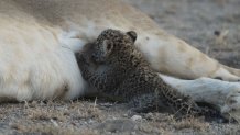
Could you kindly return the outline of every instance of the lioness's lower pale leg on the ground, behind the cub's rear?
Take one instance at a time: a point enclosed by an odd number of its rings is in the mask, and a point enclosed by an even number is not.
[[[170,86],[190,95],[195,101],[212,104],[221,113],[240,121],[240,83],[205,77],[195,80],[183,80],[161,74],[159,76]]]

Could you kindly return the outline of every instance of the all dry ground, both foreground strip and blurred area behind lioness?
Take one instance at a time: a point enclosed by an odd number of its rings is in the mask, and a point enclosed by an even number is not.
[[[240,68],[240,0],[124,0],[166,32],[209,56]],[[163,113],[133,113],[100,99],[0,104],[3,135],[239,135],[240,125]]]

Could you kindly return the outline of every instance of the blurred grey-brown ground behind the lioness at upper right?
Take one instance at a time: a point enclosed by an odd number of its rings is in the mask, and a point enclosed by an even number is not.
[[[240,0],[123,0],[161,29],[240,68]]]

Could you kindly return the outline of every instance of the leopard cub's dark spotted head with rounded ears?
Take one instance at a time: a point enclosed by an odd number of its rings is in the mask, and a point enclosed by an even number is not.
[[[105,63],[111,54],[119,54],[128,46],[132,46],[137,40],[137,33],[127,33],[118,30],[105,30],[94,43],[91,57],[97,63]]]

